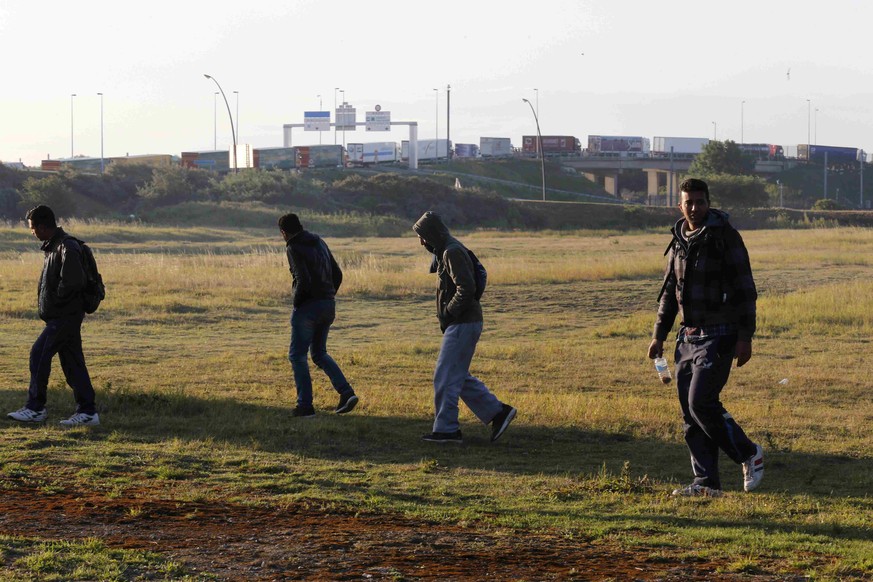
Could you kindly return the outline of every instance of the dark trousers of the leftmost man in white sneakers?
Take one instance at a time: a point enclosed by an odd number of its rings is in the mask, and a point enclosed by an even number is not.
[[[27,391],[27,407],[31,410],[45,408],[48,380],[55,354],[61,360],[61,368],[67,384],[76,398],[76,412],[94,414],[94,387],[85,366],[82,353],[82,320],[84,313],[50,319],[45,329],[36,338],[30,349],[30,387]]]

